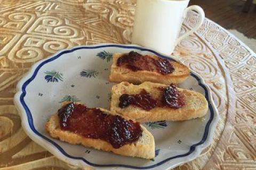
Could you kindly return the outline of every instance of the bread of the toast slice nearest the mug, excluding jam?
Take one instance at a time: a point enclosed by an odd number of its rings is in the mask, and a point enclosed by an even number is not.
[[[140,84],[143,82],[154,82],[169,85],[171,83],[178,84],[183,82],[190,74],[188,67],[185,65],[171,61],[174,71],[171,74],[162,75],[156,71],[138,70],[132,71],[125,67],[118,67],[117,60],[124,53],[115,53],[113,56],[113,64],[111,66],[111,72],[109,80],[111,82],[129,82],[133,84]],[[154,59],[158,59],[158,56],[149,56]]]

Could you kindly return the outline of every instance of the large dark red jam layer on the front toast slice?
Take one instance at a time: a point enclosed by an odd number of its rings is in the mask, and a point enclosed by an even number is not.
[[[113,148],[135,142],[142,135],[138,122],[87,108],[83,104],[68,103],[58,110],[58,116],[62,130],[107,141]]]

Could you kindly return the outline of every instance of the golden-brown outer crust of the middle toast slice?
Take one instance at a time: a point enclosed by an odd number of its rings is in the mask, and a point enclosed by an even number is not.
[[[112,100],[110,103],[111,112],[115,112],[116,114],[130,117],[140,123],[145,123],[145,122],[155,122],[155,121],[159,121],[159,120],[172,120],[172,121],[189,120],[189,119],[193,119],[193,118],[203,117],[206,115],[206,113],[208,111],[208,102],[205,99],[204,95],[194,92],[194,91],[183,90],[181,88],[179,88],[179,90],[185,91],[186,93],[191,93],[193,95],[196,94],[198,96],[198,98],[201,99],[203,106],[197,110],[194,110],[193,108],[186,109],[186,110],[154,108],[150,111],[146,111],[146,110],[143,110],[140,108],[138,108],[138,111],[129,110],[129,108],[126,108],[124,110],[122,108],[116,107],[118,99],[119,99],[119,95],[116,94],[116,92],[118,90],[120,90],[120,88],[122,88],[121,86],[123,86],[123,88],[128,88],[129,86],[142,86],[143,87],[143,86],[149,86],[149,85],[155,85],[158,87],[161,87],[161,86],[166,87],[167,86],[167,85],[163,85],[163,84],[159,84],[159,83],[151,83],[151,82],[144,82],[140,85],[133,85],[128,82],[122,82],[117,85],[114,85],[112,87]],[[129,107],[132,107],[132,106],[129,106]]]

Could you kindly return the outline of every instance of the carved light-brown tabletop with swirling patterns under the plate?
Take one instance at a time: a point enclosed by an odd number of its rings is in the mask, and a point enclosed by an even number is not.
[[[15,86],[32,64],[76,45],[129,44],[135,1],[0,0],[0,169],[77,169],[31,141],[13,105]],[[197,22],[190,12],[181,33]],[[201,156],[175,169],[256,169],[256,58],[205,19],[173,53],[203,76],[221,120]]]

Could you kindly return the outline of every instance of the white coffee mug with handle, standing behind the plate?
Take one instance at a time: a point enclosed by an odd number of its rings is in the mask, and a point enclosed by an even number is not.
[[[204,21],[200,6],[188,6],[189,0],[137,0],[132,43],[171,55],[174,47],[194,33]],[[181,25],[188,11],[199,13],[199,22],[187,33],[179,36]]]

